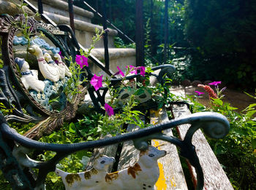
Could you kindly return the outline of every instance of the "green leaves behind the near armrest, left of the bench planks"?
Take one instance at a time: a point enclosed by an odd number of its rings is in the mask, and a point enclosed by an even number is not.
[[[92,116],[84,116],[75,123],[64,123],[61,130],[53,131],[50,135],[40,138],[39,141],[62,144],[97,140],[99,139],[99,132],[101,131],[99,128],[100,117],[99,114],[94,114]],[[45,151],[43,154],[39,154],[38,159],[47,161],[55,155],[55,152]],[[83,172],[89,161],[89,157],[91,157],[91,151],[78,151],[62,159],[56,167],[69,173]],[[55,173],[48,173],[48,178],[45,183],[46,189],[64,189],[61,178]]]

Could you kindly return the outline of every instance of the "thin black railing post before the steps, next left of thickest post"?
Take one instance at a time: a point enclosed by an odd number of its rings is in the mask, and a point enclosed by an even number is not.
[[[104,57],[105,57],[105,68],[109,69],[109,55],[108,55],[108,30],[107,30],[107,14],[106,14],[106,1],[102,0],[102,25],[105,30],[104,33]]]

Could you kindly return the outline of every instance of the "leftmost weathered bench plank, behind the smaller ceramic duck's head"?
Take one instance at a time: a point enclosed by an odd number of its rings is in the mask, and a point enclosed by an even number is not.
[[[100,139],[102,138],[110,138],[112,135],[105,135],[105,136],[101,136]],[[95,158],[97,158],[99,155],[106,155],[108,157],[116,157],[116,150],[118,147],[118,143],[117,144],[113,144],[111,146],[104,146],[102,148],[99,149],[94,149],[93,155],[91,156],[87,166],[86,166],[86,170],[90,170],[92,167],[92,164],[94,163]],[[111,173],[113,165],[110,165],[108,167],[108,173]]]

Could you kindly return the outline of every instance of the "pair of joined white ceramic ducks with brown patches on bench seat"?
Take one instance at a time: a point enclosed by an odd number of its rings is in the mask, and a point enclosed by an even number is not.
[[[165,157],[166,151],[154,146],[140,151],[140,158],[133,166],[114,173],[107,173],[108,165],[113,159],[102,156],[94,162],[93,169],[77,174],[64,173],[56,169],[66,187],[66,190],[140,190],[154,189],[159,178],[157,159]]]

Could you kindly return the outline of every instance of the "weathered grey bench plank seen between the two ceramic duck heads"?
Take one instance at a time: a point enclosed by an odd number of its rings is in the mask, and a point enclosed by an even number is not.
[[[127,132],[132,132],[139,129],[140,127],[136,126],[135,124],[128,124]],[[117,170],[123,170],[130,165],[134,165],[135,162],[138,161],[139,155],[140,151],[138,149],[135,149],[132,140],[124,142]]]

